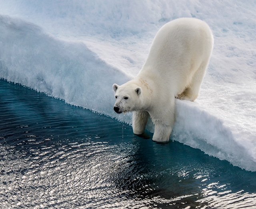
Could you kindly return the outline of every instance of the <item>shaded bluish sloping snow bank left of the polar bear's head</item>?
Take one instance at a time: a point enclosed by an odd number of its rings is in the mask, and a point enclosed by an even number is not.
[[[111,115],[112,84],[126,82],[126,76],[85,44],[57,40],[38,26],[7,16],[0,16],[0,31],[1,78]]]

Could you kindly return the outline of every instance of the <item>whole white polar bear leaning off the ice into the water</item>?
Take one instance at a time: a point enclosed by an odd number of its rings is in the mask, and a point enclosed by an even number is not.
[[[175,122],[175,98],[197,98],[212,48],[212,32],[204,21],[179,18],[166,23],[138,75],[121,86],[113,85],[114,111],[134,112],[136,135],[144,133],[150,115],[155,125],[152,140],[168,142]]]

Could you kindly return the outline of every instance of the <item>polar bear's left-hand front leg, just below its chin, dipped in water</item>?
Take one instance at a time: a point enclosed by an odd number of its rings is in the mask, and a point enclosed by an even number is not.
[[[144,133],[145,127],[148,122],[148,112],[147,111],[134,111],[132,115],[132,129],[133,133],[140,135]]]

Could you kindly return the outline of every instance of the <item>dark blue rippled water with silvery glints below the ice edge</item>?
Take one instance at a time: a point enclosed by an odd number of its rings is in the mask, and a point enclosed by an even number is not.
[[[256,172],[0,80],[0,208],[255,205]]]

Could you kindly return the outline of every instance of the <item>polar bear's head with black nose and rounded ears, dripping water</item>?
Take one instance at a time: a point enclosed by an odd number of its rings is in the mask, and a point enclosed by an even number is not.
[[[118,114],[130,111],[136,111],[141,106],[142,89],[135,84],[127,82],[122,86],[117,84],[113,85],[115,92],[116,103],[114,105],[114,111]]]

